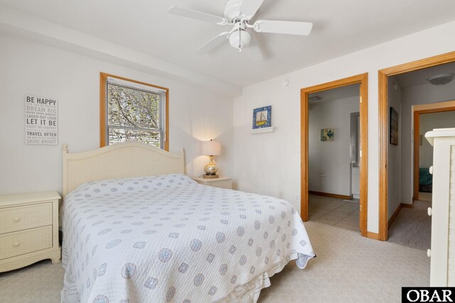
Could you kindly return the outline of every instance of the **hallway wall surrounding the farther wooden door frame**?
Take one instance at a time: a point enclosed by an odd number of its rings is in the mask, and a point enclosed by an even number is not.
[[[412,203],[412,170],[413,142],[412,129],[414,119],[412,106],[417,104],[435,103],[455,100],[455,81],[436,86],[423,84],[402,89],[402,158],[401,158],[401,199],[402,203]]]

